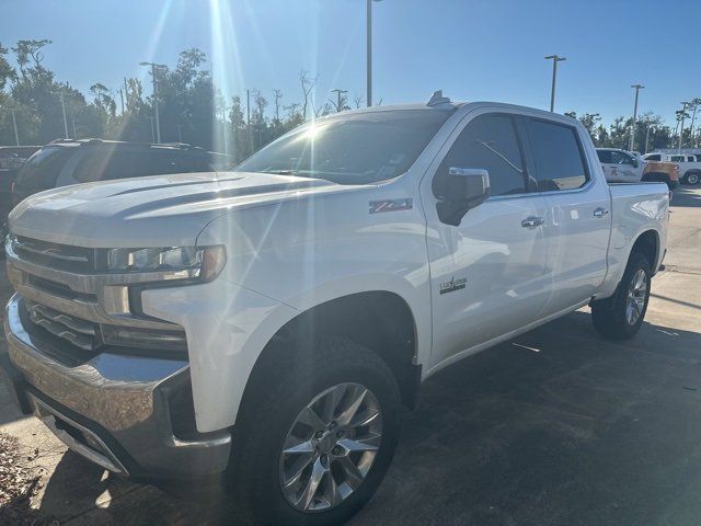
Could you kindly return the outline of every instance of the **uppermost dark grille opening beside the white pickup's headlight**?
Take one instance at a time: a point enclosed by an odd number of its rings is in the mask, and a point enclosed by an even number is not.
[[[37,265],[84,273],[95,270],[95,249],[41,241],[23,236],[13,236],[10,243],[19,258]]]

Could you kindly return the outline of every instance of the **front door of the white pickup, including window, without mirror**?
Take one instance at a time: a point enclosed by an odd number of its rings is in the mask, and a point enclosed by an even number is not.
[[[515,118],[468,116],[422,182],[427,215],[434,345],[432,366],[538,319],[548,299],[543,196],[527,193]],[[491,197],[458,226],[436,213],[449,168],[485,169]]]

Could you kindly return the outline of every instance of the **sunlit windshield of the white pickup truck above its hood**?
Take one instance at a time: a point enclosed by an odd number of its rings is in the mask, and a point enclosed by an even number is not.
[[[399,110],[323,119],[290,132],[234,171],[294,174],[341,184],[387,181],[409,170],[451,113]]]

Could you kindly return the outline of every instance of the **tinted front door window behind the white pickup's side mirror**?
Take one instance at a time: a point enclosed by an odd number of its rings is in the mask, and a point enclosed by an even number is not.
[[[437,196],[446,196],[448,170],[481,168],[490,173],[491,195],[526,192],[524,161],[514,119],[507,115],[482,115],[471,121],[450,147],[434,178]]]

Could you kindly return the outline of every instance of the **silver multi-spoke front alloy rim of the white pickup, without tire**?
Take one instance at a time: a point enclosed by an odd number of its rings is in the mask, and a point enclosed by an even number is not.
[[[367,477],[382,439],[382,413],[360,384],[321,392],[295,419],[283,446],[279,481],[301,512],[327,511],[348,499]]]

